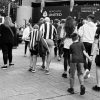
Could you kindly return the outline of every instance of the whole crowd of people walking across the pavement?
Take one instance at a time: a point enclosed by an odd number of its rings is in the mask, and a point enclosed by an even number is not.
[[[42,59],[41,68],[45,74],[50,74],[50,63],[53,57],[58,61],[64,59],[62,73],[63,78],[69,75],[70,87],[68,92],[74,94],[75,71],[80,83],[80,95],[85,94],[84,80],[91,75],[91,65],[95,58],[97,84],[92,88],[100,91],[100,23],[94,23],[94,15],[88,15],[87,19],[79,22],[73,17],[55,19],[51,23],[49,17],[40,18],[39,22],[26,24],[22,39],[25,42],[24,56],[27,47],[30,51],[30,66],[28,71],[35,73],[37,57]],[[4,66],[7,68],[12,63],[12,48],[14,41],[13,24],[9,17],[5,17],[4,24],[0,25],[0,41],[3,53]],[[5,35],[6,34],[6,35]],[[7,40],[7,41],[5,41]],[[68,70],[69,69],[69,70]]]

